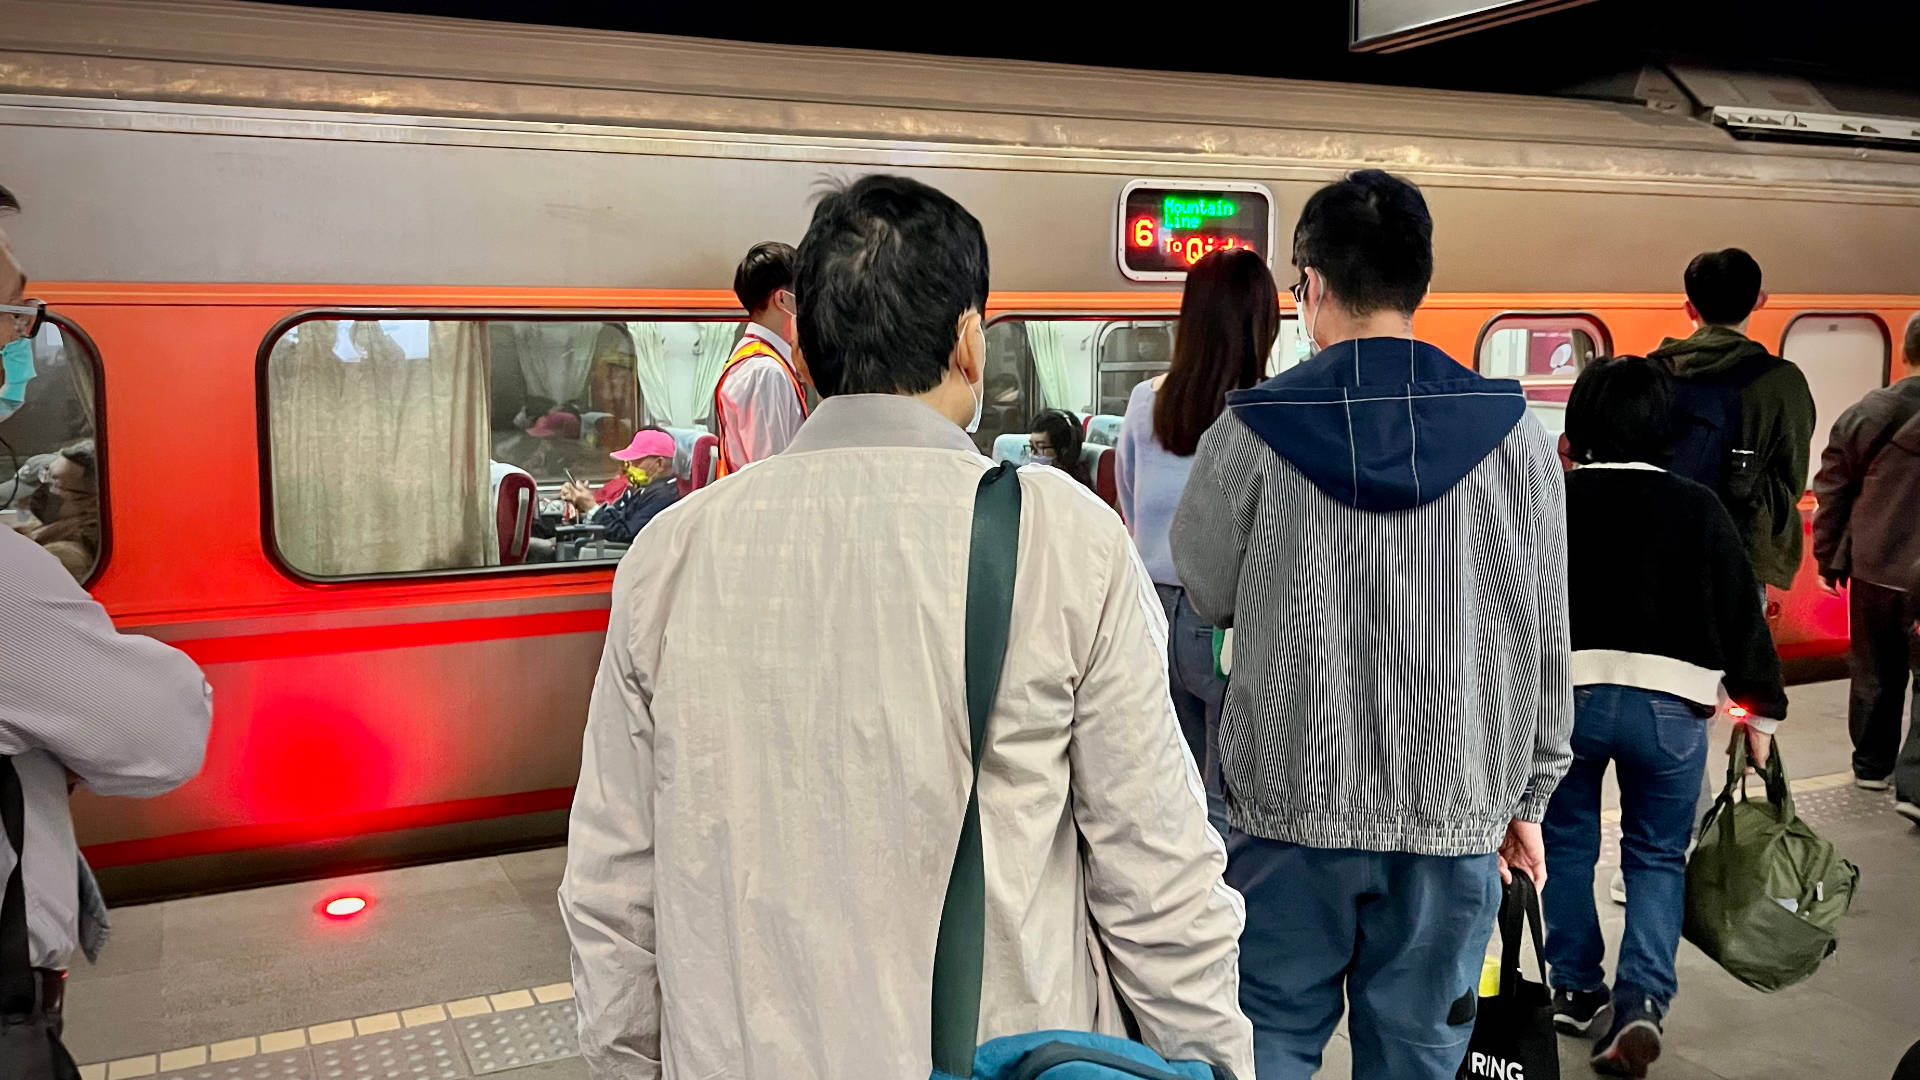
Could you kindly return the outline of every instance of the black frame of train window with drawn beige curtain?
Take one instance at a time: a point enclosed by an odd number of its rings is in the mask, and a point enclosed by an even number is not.
[[[409,584],[434,578],[490,578],[497,575],[576,575],[611,578],[618,559],[572,559],[553,563],[513,563],[480,567],[434,567],[419,571],[380,571],[357,575],[313,575],[296,567],[282,552],[275,528],[273,494],[273,402],[269,363],[273,346],[301,323],[323,321],[399,321],[399,323],[745,323],[739,307],[301,307],[276,319],[253,354],[253,421],[259,457],[259,536],[267,561],[290,580],[317,586]]]

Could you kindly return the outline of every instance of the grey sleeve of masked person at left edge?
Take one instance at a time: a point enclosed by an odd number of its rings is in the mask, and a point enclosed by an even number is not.
[[[200,773],[213,692],[173,646],[121,634],[60,559],[0,528],[0,753],[44,749],[102,796]]]

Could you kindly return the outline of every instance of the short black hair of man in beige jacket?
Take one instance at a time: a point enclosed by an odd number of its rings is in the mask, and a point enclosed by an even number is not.
[[[947,373],[960,315],[987,309],[987,236],[920,181],[862,177],[814,208],[793,279],[822,398],[924,394]]]

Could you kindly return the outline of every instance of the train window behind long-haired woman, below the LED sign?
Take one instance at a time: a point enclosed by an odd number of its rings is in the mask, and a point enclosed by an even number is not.
[[[979,434],[981,454],[995,440],[1025,432],[1041,409],[1089,413],[1094,442],[1112,440],[1127,398],[1140,382],[1173,363],[1171,315],[1114,319],[1112,315],[1002,315],[987,325],[987,409]],[[1267,357],[1267,375],[1300,361],[1294,356],[1298,319],[1281,319],[1281,336]]]

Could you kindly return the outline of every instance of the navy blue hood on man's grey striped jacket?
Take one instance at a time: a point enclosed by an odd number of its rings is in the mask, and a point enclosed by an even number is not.
[[[1227,407],[1327,498],[1386,513],[1450,492],[1521,423],[1526,394],[1430,344],[1361,338],[1229,394]]]

